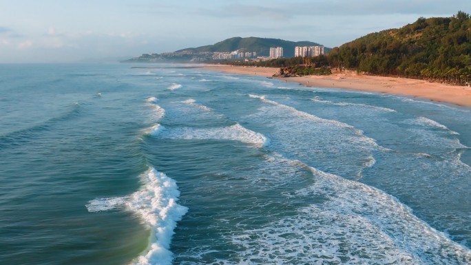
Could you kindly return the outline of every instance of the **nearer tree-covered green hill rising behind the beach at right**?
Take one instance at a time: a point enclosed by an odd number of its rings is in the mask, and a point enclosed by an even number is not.
[[[426,78],[465,85],[471,82],[471,19],[417,19],[399,29],[363,36],[327,54],[334,67],[379,75]]]

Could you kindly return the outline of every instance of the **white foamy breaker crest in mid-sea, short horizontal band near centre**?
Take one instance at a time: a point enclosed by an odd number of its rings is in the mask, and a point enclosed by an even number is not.
[[[168,129],[162,137],[184,140],[235,140],[253,145],[256,148],[269,144],[269,139],[263,134],[251,131],[239,124],[211,129],[193,129],[189,127]]]

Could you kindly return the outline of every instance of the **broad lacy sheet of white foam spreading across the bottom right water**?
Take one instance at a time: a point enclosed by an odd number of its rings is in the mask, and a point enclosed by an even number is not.
[[[240,264],[471,262],[469,249],[419,220],[396,198],[359,182],[311,171],[315,184],[287,198],[324,199],[261,228],[241,226],[231,233],[227,240],[240,246]]]

